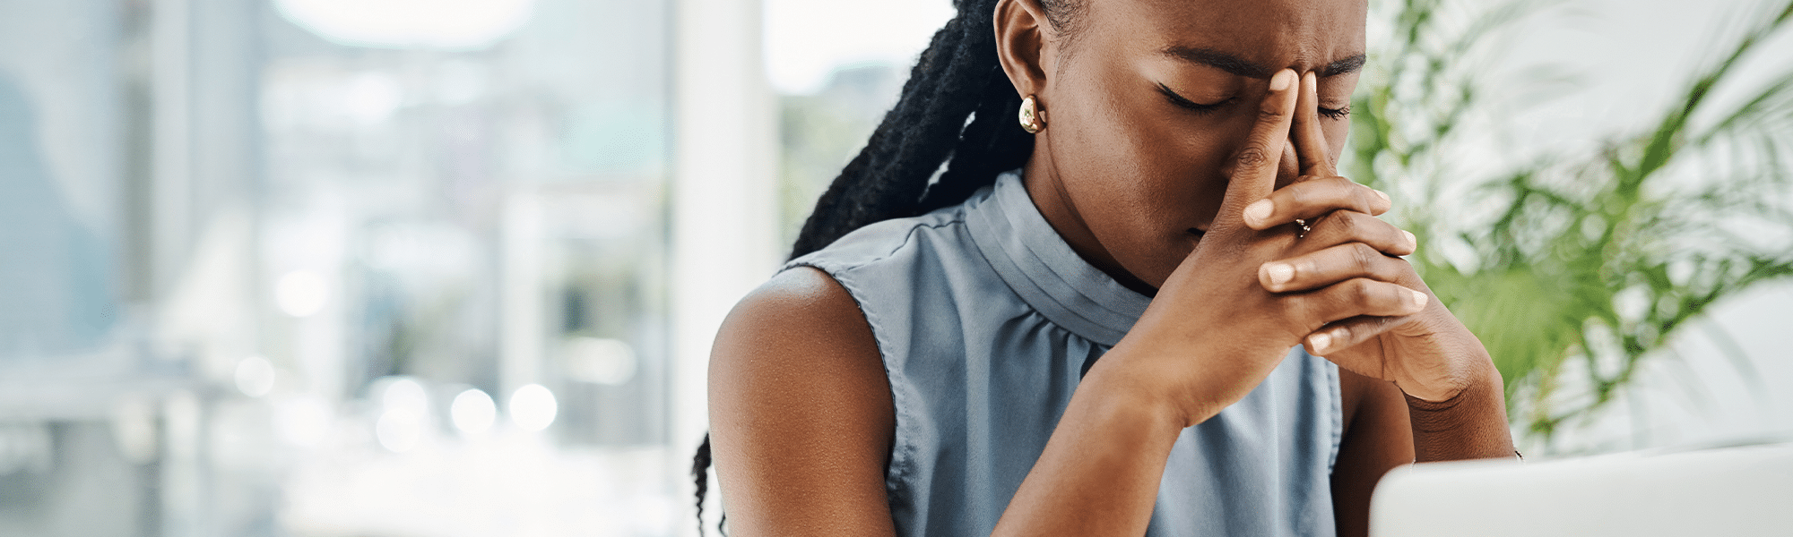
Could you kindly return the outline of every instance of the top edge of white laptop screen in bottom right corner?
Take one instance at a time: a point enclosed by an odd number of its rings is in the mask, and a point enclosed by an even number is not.
[[[1793,537],[1793,444],[1400,467],[1372,537]]]

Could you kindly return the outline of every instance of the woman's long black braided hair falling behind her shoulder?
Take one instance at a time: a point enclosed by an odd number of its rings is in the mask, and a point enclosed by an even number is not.
[[[1069,36],[1087,0],[1040,0],[1047,21]],[[954,0],[954,16],[922,52],[896,106],[871,140],[816,200],[791,258],[819,251],[853,229],[963,202],[997,174],[1022,166],[1033,136],[1015,122],[1020,97],[997,63],[997,0]],[[966,122],[970,118],[970,122]],[[945,163],[940,179],[934,172]],[[708,490],[710,435],[692,458],[697,533]],[[715,526],[721,532],[728,516]]]

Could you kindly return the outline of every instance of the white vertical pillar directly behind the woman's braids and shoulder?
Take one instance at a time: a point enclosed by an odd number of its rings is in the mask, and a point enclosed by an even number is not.
[[[689,469],[685,455],[708,430],[705,378],[715,329],[771,276],[784,249],[760,2],[678,0],[676,13],[671,440],[672,467]],[[680,532],[696,533],[690,510]],[[715,524],[714,510],[706,521]]]

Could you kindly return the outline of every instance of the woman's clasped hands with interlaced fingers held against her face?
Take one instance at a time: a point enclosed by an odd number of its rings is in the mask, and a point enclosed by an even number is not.
[[[1244,397],[1298,344],[1427,401],[1454,397],[1488,363],[1399,258],[1416,243],[1375,218],[1388,195],[1338,177],[1314,86],[1293,70],[1271,79],[1212,227],[1110,353],[1117,360],[1103,360],[1115,362],[1104,374],[1156,390],[1187,424]],[[1278,190],[1291,140],[1302,177]]]

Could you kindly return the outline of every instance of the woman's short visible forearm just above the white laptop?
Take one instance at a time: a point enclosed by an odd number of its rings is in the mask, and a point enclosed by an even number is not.
[[[1506,399],[1494,363],[1463,392],[1445,401],[1408,396],[1416,462],[1513,456]]]

